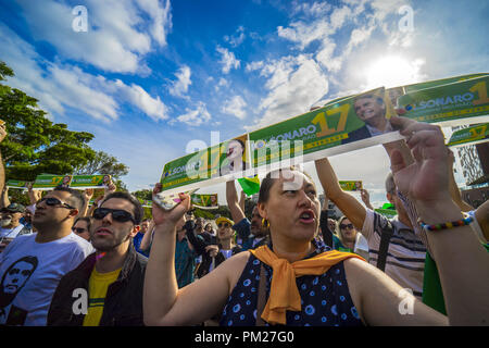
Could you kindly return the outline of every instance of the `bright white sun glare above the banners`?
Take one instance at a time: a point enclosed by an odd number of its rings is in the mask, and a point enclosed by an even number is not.
[[[424,61],[416,59],[408,61],[402,57],[388,55],[374,61],[365,70],[366,89],[380,86],[398,87],[421,82],[419,73]]]

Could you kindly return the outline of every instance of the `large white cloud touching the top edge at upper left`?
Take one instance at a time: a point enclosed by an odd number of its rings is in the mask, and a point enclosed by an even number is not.
[[[152,49],[151,38],[164,46],[171,27],[168,1],[160,8],[155,0],[87,0],[86,33],[73,30],[75,16],[66,2],[16,1],[35,39],[48,41],[63,58],[109,72],[148,74],[142,59]],[[141,12],[152,22],[143,21]]]

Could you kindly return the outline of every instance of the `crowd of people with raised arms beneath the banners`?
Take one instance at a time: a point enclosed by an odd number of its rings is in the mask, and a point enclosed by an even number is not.
[[[318,183],[269,172],[249,216],[227,182],[229,216],[209,220],[185,194],[145,219],[113,184],[91,207],[92,189],[64,186],[29,188],[24,207],[9,200],[0,153],[0,324],[488,325],[489,202],[462,200],[438,126],[390,125],[405,137],[384,145],[394,219],[366,190],[363,203],[342,190],[327,158]]]

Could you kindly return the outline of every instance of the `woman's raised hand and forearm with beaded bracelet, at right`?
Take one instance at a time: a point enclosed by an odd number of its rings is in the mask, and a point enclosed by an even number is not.
[[[394,116],[391,122],[408,136],[414,158],[414,163],[406,165],[399,151],[391,153],[396,185],[414,202],[421,221],[434,225],[463,219],[449,191],[449,153],[441,129],[405,117]],[[489,253],[467,225],[426,234],[437,262],[450,324],[487,325]]]

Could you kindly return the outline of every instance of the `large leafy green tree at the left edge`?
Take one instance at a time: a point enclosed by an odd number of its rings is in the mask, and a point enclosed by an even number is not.
[[[0,61],[0,80],[14,76]],[[53,124],[38,108],[37,99],[0,84],[0,116],[7,138],[0,144],[8,178],[34,181],[41,173],[71,174],[96,157],[88,142],[93,135]]]

